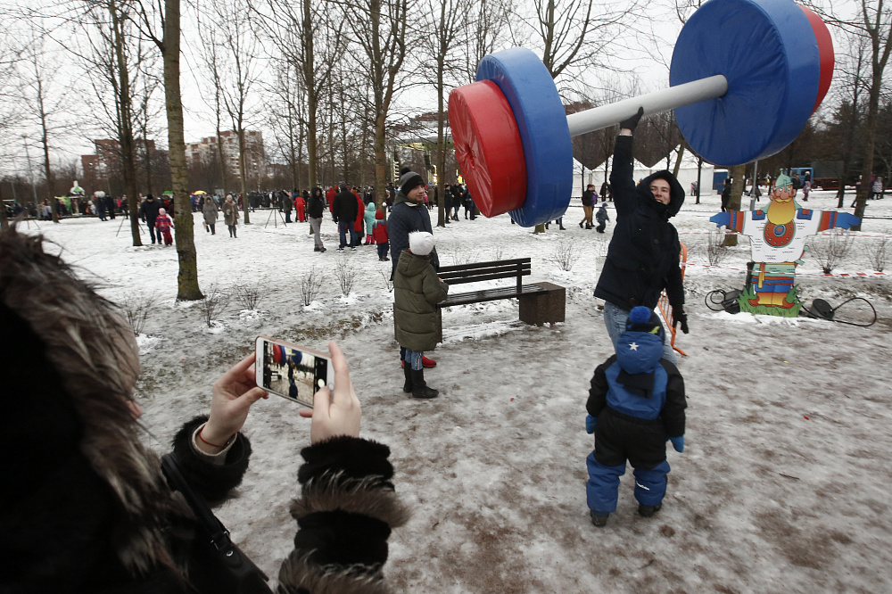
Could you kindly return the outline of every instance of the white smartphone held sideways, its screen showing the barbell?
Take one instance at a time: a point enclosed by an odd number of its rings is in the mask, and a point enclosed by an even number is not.
[[[327,385],[328,359],[291,345],[262,341],[264,390],[313,406],[313,394]]]

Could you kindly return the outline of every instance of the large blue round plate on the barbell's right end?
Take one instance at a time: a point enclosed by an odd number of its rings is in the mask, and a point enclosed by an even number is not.
[[[728,92],[675,110],[681,134],[706,161],[729,167],[793,142],[821,79],[814,30],[791,0],[709,0],[675,42],[669,84],[723,74]]]

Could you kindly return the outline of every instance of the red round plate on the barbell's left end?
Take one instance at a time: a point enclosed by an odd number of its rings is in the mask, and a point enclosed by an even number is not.
[[[508,99],[491,80],[452,89],[449,121],[458,167],[485,217],[524,205],[526,161]]]

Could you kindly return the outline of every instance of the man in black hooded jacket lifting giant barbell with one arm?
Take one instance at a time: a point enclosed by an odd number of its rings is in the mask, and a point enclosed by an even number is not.
[[[643,114],[640,108],[632,118],[620,122],[610,172],[616,221],[595,287],[595,297],[605,301],[604,323],[614,348],[625,331],[629,311],[639,305],[656,308],[663,289],[672,305],[673,326],[681,324],[681,332],[688,334],[679,267],[681,243],[669,222],[681,209],[684,188],[666,170],[645,177],[635,186],[632,134]],[[678,364],[670,341],[664,344],[663,357]]]

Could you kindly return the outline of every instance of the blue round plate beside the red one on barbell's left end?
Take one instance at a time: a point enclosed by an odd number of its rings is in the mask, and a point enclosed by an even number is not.
[[[564,105],[545,64],[528,49],[489,54],[477,65],[477,80],[499,86],[524,144],[526,198],[511,210],[521,227],[533,227],[564,214],[573,187],[573,146]],[[813,97],[814,102],[814,97]]]

